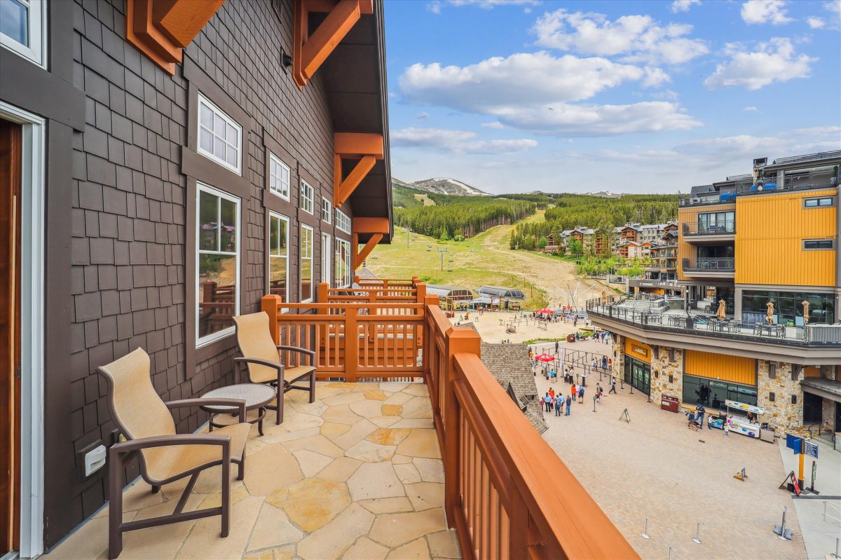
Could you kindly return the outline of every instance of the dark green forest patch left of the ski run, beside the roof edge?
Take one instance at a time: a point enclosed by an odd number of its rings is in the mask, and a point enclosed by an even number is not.
[[[424,206],[415,194],[425,194],[435,203]],[[408,227],[438,239],[473,236],[489,227],[512,224],[534,214],[534,203],[491,197],[463,197],[429,193],[394,185],[394,225]]]

